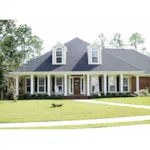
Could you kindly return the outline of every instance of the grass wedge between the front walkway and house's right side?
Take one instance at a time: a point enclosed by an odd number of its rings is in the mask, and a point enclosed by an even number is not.
[[[150,97],[100,98],[95,100],[150,106]]]

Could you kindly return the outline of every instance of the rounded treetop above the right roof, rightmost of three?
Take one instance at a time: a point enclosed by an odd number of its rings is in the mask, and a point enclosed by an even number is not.
[[[131,46],[133,46],[133,48],[135,50],[137,50],[138,46],[140,44],[143,44],[144,42],[145,42],[145,40],[142,38],[141,34],[139,34],[137,32],[133,33],[131,35],[131,37],[129,38],[129,43],[130,43]]]

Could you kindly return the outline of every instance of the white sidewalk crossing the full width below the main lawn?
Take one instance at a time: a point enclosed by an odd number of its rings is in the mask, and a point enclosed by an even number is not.
[[[150,115],[132,116],[132,117],[118,117],[118,118],[104,118],[104,119],[91,119],[91,120],[28,122],[28,123],[0,123],[0,128],[85,125],[85,124],[97,124],[97,123],[132,122],[132,121],[143,121],[143,120],[150,120]]]

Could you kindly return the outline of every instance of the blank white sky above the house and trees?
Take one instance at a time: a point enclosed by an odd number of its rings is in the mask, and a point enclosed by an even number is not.
[[[30,26],[44,41],[42,53],[58,41],[65,43],[75,37],[92,43],[101,33],[108,40],[121,33],[127,42],[134,32],[142,34],[143,47],[150,52],[148,0],[5,0],[2,4],[7,7],[1,8],[0,18]]]

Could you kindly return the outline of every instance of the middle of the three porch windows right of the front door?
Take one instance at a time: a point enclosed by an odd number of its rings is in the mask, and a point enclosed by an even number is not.
[[[109,76],[108,84],[109,84],[109,92],[115,92],[116,91],[116,77]]]

